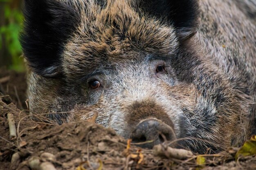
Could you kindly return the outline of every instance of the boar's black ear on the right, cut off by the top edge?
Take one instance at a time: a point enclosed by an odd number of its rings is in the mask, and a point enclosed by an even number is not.
[[[181,41],[196,32],[198,0],[133,0],[133,5],[149,15],[172,24]]]

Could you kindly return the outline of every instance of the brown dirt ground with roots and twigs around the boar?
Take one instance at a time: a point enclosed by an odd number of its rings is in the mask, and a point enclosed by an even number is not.
[[[93,119],[58,126],[44,115],[35,115],[34,121],[23,110],[27,108],[25,91],[24,73],[0,69],[1,170],[256,169],[255,155],[235,161],[238,148],[178,158],[170,156],[167,144],[159,145],[158,154],[139,148]],[[16,137],[10,137],[10,116]]]

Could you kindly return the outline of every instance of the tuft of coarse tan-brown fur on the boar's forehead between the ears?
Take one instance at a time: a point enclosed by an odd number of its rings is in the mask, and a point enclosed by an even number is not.
[[[178,43],[174,28],[164,21],[137,13],[123,0],[108,1],[104,8],[96,2],[89,5],[80,5],[81,23],[65,45],[63,70],[67,77],[141,60],[146,54],[175,53]]]

